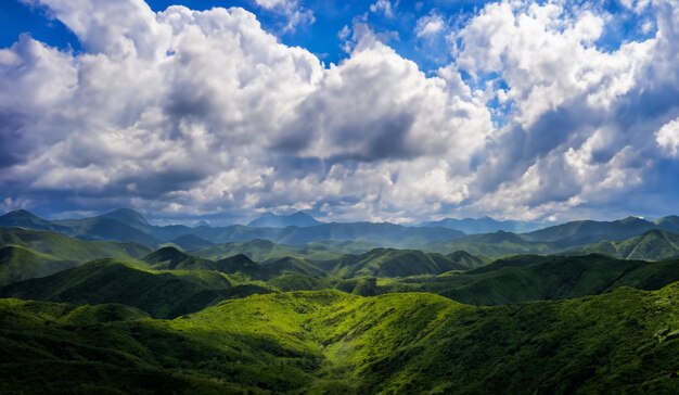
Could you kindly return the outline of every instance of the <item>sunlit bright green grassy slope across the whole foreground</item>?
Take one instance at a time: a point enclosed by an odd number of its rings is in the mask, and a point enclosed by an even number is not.
[[[0,392],[672,393],[677,300],[676,284],[500,307],[296,292],[75,327],[74,306],[4,300]]]

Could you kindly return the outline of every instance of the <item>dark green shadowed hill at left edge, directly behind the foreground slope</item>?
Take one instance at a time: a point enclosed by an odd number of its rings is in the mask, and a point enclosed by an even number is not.
[[[153,271],[115,259],[92,260],[0,289],[1,297],[76,304],[120,303],[154,317],[177,317],[221,298],[231,282],[218,272]]]

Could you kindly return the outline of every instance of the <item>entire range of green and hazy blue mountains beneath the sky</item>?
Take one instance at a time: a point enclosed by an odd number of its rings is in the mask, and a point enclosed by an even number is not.
[[[675,217],[469,235],[157,227],[129,209],[0,224],[0,393],[677,386]]]

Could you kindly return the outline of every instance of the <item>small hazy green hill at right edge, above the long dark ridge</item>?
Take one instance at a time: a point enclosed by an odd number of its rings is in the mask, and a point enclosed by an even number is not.
[[[663,260],[679,257],[679,234],[665,230],[650,230],[627,240],[601,241],[569,250],[567,253],[602,253],[623,259]]]

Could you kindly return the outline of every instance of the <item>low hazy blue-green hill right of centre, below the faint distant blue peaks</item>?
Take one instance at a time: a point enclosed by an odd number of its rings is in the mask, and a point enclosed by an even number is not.
[[[465,251],[475,256],[503,257],[520,254],[553,254],[561,249],[545,242],[526,241],[516,233],[499,230],[495,233],[471,234],[465,238],[432,242],[421,250],[449,254]]]

